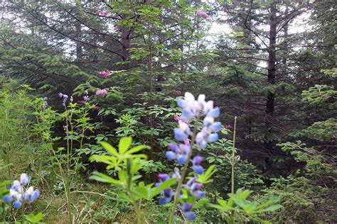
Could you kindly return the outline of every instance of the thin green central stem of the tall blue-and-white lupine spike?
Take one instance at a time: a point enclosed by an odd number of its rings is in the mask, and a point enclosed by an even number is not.
[[[191,139],[191,150],[188,153],[188,157],[186,160],[186,163],[183,165],[183,169],[181,171],[181,178],[178,179],[178,186],[176,188],[176,194],[174,194],[174,200],[173,200],[173,206],[172,206],[172,211],[171,211],[171,215],[170,215],[170,220],[169,220],[169,224],[173,223],[173,218],[174,218],[174,213],[176,212],[176,206],[177,206],[177,202],[178,202],[178,197],[181,191],[181,187],[183,186],[183,179],[185,178],[186,172],[187,172],[187,168],[188,168],[188,164],[191,160],[191,156],[192,156],[192,150],[193,150],[193,145],[194,145],[194,141],[196,140],[196,132],[198,130],[198,121],[199,118],[197,118],[196,120],[196,127],[193,130],[193,135],[192,135],[192,139]]]

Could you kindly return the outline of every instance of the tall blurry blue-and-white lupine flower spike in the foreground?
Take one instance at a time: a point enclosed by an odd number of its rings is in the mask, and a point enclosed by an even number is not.
[[[174,138],[181,144],[170,143],[169,151],[166,151],[166,158],[170,160],[176,160],[177,164],[183,164],[186,167],[186,162],[191,162],[193,165],[193,171],[200,175],[203,174],[204,169],[201,166],[203,162],[203,157],[196,155],[191,159],[192,148],[191,145],[204,148],[210,142],[215,142],[218,140],[218,131],[221,129],[221,123],[215,122],[215,118],[220,115],[220,108],[213,107],[213,101],[205,101],[205,95],[199,95],[198,99],[188,92],[185,93],[183,99],[178,99],[177,104],[182,109],[181,116],[174,116],[174,120],[178,121],[178,128],[174,128],[173,134]],[[203,127],[200,127],[200,131],[193,136],[196,131],[191,131],[189,124],[191,121],[198,123],[200,118],[203,118]],[[194,140],[194,142],[191,142]],[[186,172],[184,172],[186,173]],[[181,184],[185,177],[182,177],[178,167],[174,168],[174,173],[171,178],[177,179]],[[168,174],[159,174],[159,182],[155,186],[159,186],[161,182],[169,179]],[[200,199],[205,196],[205,191],[200,191],[203,188],[203,184],[198,183],[197,177],[193,177],[187,181],[186,184],[182,184],[193,197]],[[179,185],[178,185],[179,186]],[[159,198],[159,204],[169,203],[172,198],[174,198],[174,203],[176,203],[176,197],[180,195],[181,189],[176,189],[173,192],[171,189],[164,189],[161,192],[163,195]],[[174,197],[173,197],[174,196]],[[176,205],[173,205],[173,208]],[[192,212],[193,204],[184,203],[183,213],[188,218],[188,220],[196,219],[196,213]],[[173,221],[171,213],[170,222]]]

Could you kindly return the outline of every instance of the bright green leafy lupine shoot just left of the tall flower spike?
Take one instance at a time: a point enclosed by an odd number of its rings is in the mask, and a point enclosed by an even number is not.
[[[145,184],[139,181],[141,174],[139,171],[143,169],[146,163],[146,155],[137,154],[137,152],[149,149],[146,145],[132,146],[132,138],[121,138],[119,140],[118,150],[107,142],[100,144],[109,152],[109,155],[92,155],[91,160],[103,162],[107,164],[106,169],[114,169],[117,172],[118,179],[114,179],[100,172],[93,172],[90,179],[112,184],[112,186],[120,186],[123,191],[116,191],[120,197],[119,200],[132,203],[137,213],[137,222],[144,223],[144,213],[140,210],[138,201],[141,199],[151,200],[157,194],[169,186],[176,184],[176,179],[164,181],[159,186],[154,184]]]

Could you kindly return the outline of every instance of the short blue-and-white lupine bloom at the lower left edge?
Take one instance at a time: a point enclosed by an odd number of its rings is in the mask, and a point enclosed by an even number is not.
[[[15,180],[12,184],[10,184],[9,194],[5,195],[2,200],[6,203],[14,201],[14,208],[20,208],[23,201],[28,203],[35,201],[40,196],[40,191],[38,189],[34,190],[33,186],[29,186],[27,189],[24,189],[23,186],[26,186],[28,181],[28,175],[21,174],[20,181]]]

